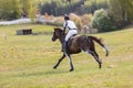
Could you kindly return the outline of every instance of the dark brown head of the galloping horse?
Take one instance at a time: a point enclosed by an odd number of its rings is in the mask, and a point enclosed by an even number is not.
[[[54,28],[54,32],[53,32],[53,36],[52,36],[52,41],[57,41],[58,38],[61,38],[64,35],[63,30],[61,30],[60,28]]]

